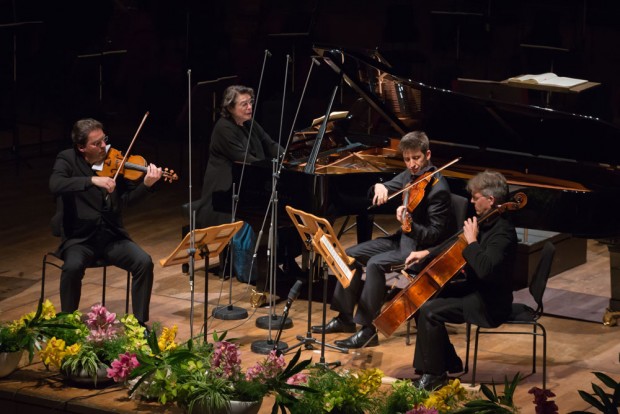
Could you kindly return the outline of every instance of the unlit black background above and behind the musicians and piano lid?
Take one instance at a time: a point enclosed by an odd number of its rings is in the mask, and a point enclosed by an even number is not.
[[[612,0],[0,0],[0,151],[53,158],[84,116],[122,148],[147,110],[145,142],[185,141],[189,89],[208,101],[196,83],[231,75],[261,82],[257,119],[275,138],[284,118],[286,136],[313,44],[378,49],[396,73],[448,89],[551,70],[600,82],[570,108],[617,123],[619,22]],[[325,111],[333,76],[315,72],[296,128]],[[192,111],[197,142],[205,105]]]

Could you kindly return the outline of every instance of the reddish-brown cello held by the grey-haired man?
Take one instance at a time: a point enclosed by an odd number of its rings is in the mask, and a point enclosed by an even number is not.
[[[513,200],[496,206],[480,217],[478,223],[504,211],[523,208],[527,203],[527,196],[519,192],[513,196]],[[407,287],[383,307],[379,316],[373,321],[382,334],[387,337],[392,335],[403,322],[412,317],[427,300],[439,292],[465,266],[463,249],[467,246],[467,240],[465,240],[463,231],[461,230],[453,238],[456,238],[454,243],[435,257],[412,278]],[[407,274],[407,277],[410,276]]]

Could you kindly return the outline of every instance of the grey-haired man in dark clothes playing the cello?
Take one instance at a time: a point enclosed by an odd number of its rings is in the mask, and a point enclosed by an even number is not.
[[[462,255],[466,265],[463,281],[448,283],[417,313],[417,340],[413,366],[422,376],[416,385],[432,390],[445,385],[448,373],[463,370],[463,362],[450,342],[446,323],[472,323],[493,328],[501,325],[512,310],[512,268],[517,250],[514,226],[503,216],[486,216],[506,201],[508,184],[498,172],[485,171],[469,180],[467,189],[476,216],[463,224],[467,245]],[[441,246],[414,251],[405,265],[437,256],[454,240]]]

